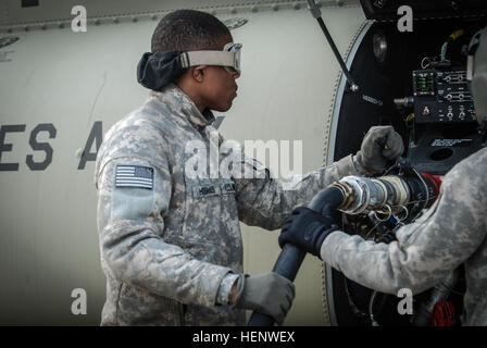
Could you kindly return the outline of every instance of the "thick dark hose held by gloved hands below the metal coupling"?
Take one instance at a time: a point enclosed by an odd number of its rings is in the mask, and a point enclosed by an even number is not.
[[[330,215],[338,207],[340,207],[345,197],[341,189],[336,186],[330,186],[317,192],[308,204],[308,208],[323,215]],[[294,282],[305,254],[305,251],[302,251],[298,247],[295,247],[291,244],[286,244],[274,264],[273,272]],[[274,322],[274,318],[271,315],[253,311],[248,325],[273,326]]]

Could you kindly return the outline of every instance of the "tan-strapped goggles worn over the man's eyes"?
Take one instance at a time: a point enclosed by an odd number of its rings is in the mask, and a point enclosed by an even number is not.
[[[229,42],[223,51],[189,51],[180,53],[179,61],[183,67],[198,65],[224,66],[230,75],[240,74],[241,44]]]

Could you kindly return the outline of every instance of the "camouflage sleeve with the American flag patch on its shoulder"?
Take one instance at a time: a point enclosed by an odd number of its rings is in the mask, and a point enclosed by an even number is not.
[[[183,303],[215,306],[220,283],[230,269],[196,260],[164,243],[171,183],[164,159],[158,158],[157,165],[134,157],[104,164],[98,176],[101,257],[120,282]]]

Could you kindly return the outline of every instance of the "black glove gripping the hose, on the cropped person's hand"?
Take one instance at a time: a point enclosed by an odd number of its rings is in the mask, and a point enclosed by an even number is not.
[[[286,220],[279,235],[279,246],[286,243],[321,258],[320,250],[326,236],[339,227],[332,216],[323,216],[312,209],[298,207]]]

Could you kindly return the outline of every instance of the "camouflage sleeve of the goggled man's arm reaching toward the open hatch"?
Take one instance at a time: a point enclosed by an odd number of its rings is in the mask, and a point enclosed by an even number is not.
[[[269,170],[246,158],[244,178],[234,178],[239,220],[266,229],[279,228],[292,209],[308,204],[321,189],[347,175],[364,175],[353,156],[302,177],[274,179]],[[251,178],[248,178],[251,174]]]

